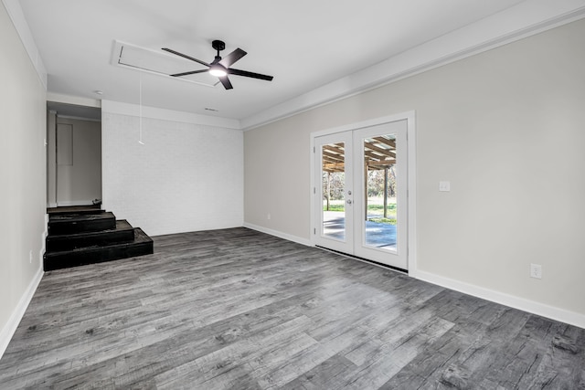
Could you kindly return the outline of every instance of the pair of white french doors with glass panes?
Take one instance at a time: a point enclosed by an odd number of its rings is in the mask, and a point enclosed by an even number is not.
[[[408,269],[407,121],[314,137],[314,242]]]

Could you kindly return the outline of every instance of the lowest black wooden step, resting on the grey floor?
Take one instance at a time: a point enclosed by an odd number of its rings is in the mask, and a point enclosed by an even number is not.
[[[133,258],[153,254],[153,239],[146,236],[140,227],[134,227],[133,233],[134,239],[132,242],[47,252],[44,258],[44,269],[45,271],[67,269],[120,258]]]

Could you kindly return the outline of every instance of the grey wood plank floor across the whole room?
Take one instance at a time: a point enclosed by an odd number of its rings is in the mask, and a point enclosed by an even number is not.
[[[0,388],[583,389],[585,330],[246,228],[48,272]]]

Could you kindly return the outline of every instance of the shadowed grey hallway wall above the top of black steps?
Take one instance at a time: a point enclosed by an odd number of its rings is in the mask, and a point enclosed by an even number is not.
[[[58,116],[59,125],[70,126],[71,139],[70,150],[57,150],[57,161],[70,153],[70,164],[57,164],[57,205],[91,205],[101,199],[101,123]]]

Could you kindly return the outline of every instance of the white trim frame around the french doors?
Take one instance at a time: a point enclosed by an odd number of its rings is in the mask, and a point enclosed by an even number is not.
[[[309,237],[311,237],[311,245],[316,245],[316,237],[315,231],[317,229],[317,221],[315,218],[315,202],[314,202],[314,191],[315,191],[315,181],[314,181],[314,170],[315,165],[318,163],[316,161],[316,153],[315,151],[315,138],[320,137],[323,135],[335,134],[336,132],[347,132],[353,131],[356,129],[369,127],[369,126],[376,126],[379,124],[384,124],[392,121],[407,121],[407,203],[408,203],[408,221],[407,221],[407,264],[408,264],[408,273],[410,276],[414,277],[417,270],[417,228],[416,228],[416,221],[417,221],[417,167],[416,167],[416,115],[415,111],[406,111],[400,112],[393,115],[388,115],[384,117],[379,117],[367,121],[358,121],[348,123],[342,126],[334,127],[325,129],[318,132],[311,132],[311,190],[310,190],[310,205],[311,205],[311,230],[309,232]],[[370,264],[377,264],[377,263],[370,263]],[[380,265],[381,266],[381,265]],[[385,267],[385,266],[384,266]]]

